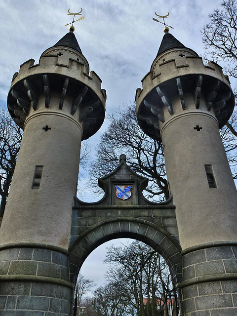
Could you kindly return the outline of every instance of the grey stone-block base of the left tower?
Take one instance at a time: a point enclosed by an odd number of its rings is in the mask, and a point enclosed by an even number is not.
[[[43,248],[0,251],[0,316],[68,316],[67,254]]]

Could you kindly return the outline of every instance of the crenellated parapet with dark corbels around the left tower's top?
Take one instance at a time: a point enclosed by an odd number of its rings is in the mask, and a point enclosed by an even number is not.
[[[91,71],[83,55],[81,60],[71,58],[70,51],[59,55],[42,55],[39,64],[30,59],[15,73],[8,93],[8,110],[14,121],[24,127],[26,118],[38,110],[39,100],[44,109],[51,109],[52,95],[57,94],[58,110],[65,108],[65,100],[71,102],[67,110],[72,118],[83,122],[83,138],[93,135],[101,126],[105,116],[106,91],[101,89],[102,80]],[[76,56],[77,56],[76,55]],[[86,64],[87,63],[87,64]],[[54,101],[55,103],[55,101]],[[96,112],[94,109],[96,108]],[[66,108],[65,108],[66,109]],[[40,111],[45,111],[40,108]],[[76,115],[79,113],[79,115]]]

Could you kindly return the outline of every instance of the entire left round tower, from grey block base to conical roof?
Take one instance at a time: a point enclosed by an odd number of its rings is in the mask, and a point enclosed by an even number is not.
[[[8,309],[68,315],[80,144],[104,120],[106,91],[72,31],[34,62],[14,74],[7,100],[24,135],[0,228],[0,295],[4,315],[12,315]],[[20,297],[17,304],[12,295]]]

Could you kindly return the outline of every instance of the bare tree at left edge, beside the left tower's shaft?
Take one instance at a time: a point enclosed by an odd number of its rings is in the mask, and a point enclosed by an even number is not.
[[[0,217],[3,216],[5,204],[16,159],[20,150],[23,131],[17,126],[7,111],[0,111]]]

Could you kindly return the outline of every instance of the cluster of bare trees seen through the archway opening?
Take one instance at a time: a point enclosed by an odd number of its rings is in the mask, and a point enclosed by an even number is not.
[[[159,253],[140,241],[133,241],[126,247],[111,246],[105,262],[111,265],[107,281],[126,296],[123,297],[127,301],[126,313],[157,316],[159,305],[167,302],[167,288],[172,288],[169,268]],[[167,313],[166,304],[163,315]]]

